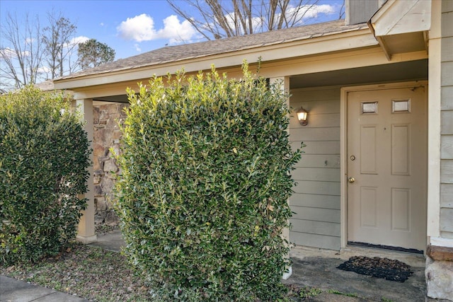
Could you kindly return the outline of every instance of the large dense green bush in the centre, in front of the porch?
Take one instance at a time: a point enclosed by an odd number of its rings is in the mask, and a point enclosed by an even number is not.
[[[299,152],[288,141],[288,95],[243,64],[128,91],[115,205],[126,254],[159,301],[275,301]]]

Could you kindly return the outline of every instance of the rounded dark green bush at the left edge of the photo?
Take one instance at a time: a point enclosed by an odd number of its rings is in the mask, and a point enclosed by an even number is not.
[[[0,96],[0,264],[55,255],[74,239],[90,151],[69,111],[63,95],[30,86]]]

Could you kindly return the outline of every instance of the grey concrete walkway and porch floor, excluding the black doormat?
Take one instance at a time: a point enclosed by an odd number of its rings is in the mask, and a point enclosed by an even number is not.
[[[119,251],[124,245],[120,231],[98,236],[92,245],[106,250]],[[389,257],[412,266],[413,275],[404,283],[367,277],[355,272],[337,269],[340,263],[355,254],[368,257]],[[299,288],[306,286],[322,289],[323,293],[306,299],[312,302],[359,302],[359,301],[436,301],[426,297],[423,257],[379,250],[349,250],[341,254],[319,249],[294,248],[292,276],[285,281]],[[52,289],[35,286],[23,281],[0,276],[0,301],[87,301]]]

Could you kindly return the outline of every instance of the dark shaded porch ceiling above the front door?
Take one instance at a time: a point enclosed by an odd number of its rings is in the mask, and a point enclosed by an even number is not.
[[[290,77],[289,87],[297,89],[320,86],[354,86],[364,83],[425,79],[428,79],[428,59],[294,75]]]

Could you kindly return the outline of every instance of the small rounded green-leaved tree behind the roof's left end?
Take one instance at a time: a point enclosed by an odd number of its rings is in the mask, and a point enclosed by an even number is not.
[[[79,43],[77,55],[81,69],[88,69],[112,62],[115,59],[115,50],[105,43],[98,42],[96,39],[90,39]]]

